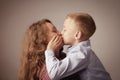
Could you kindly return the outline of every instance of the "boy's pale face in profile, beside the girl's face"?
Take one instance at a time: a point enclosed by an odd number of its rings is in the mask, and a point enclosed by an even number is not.
[[[75,33],[77,32],[77,27],[73,19],[67,18],[64,21],[64,27],[62,29],[62,37],[64,44],[74,45],[75,43]]]

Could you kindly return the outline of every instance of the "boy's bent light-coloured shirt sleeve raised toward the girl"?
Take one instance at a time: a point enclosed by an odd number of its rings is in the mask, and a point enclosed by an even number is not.
[[[81,51],[69,53],[64,59],[58,60],[52,50],[45,51],[46,67],[52,80],[72,75],[87,66],[86,54]]]

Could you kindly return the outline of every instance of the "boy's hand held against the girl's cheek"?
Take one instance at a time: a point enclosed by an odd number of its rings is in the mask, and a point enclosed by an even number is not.
[[[59,51],[63,47],[63,39],[61,35],[55,35],[47,45],[47,50]]]

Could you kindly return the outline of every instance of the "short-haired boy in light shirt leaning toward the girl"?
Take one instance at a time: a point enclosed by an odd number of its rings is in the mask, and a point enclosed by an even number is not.
[[[64,44],[72,46],[68,49],[67,56],[62,60],[55,57],[54,51],[62,44],[60,36],[55,36],[45,51],[46,67],[52,80],[76,73],[80,80],[111,80],[90,47],[89,38],[95,30],[95,22],[89,14],[73,13],[67,16],[62,30]]]

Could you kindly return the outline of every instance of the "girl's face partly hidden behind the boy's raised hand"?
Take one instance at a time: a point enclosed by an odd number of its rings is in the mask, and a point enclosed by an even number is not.
[[[46,23],[48,27],[48,42],[52,39],[52,37],[59,33],[56,27],[52,23]]]

